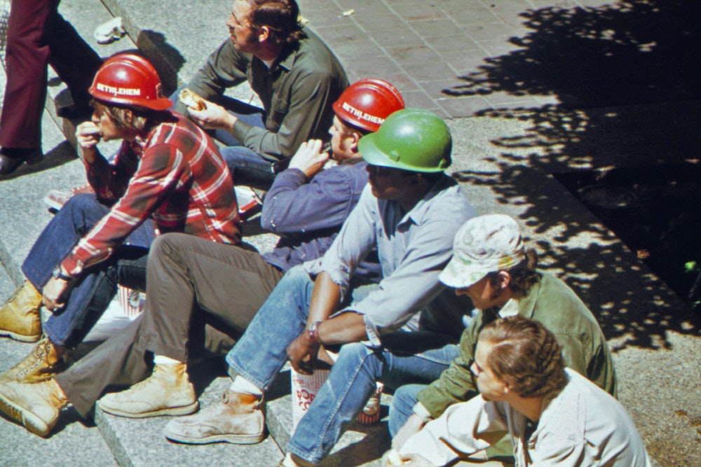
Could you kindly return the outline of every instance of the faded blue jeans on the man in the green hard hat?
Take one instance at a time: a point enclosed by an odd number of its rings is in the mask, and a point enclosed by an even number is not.
[[[285,364],[287,346],[306,326],[313,287],[313,280],[301,266],[285,274],[226,356],[232,376],[241,375],[264,390],[270,387]],[[343,345],[329,379],[299,421],[287,451],[318,463],[341,437],[343,424],[362,410],[377,381],[388,386],[433,381],[458,355],[456,344],[448,342],[453,340],[446,336],[442,344],[419,354],[371,349],[360,342]]]

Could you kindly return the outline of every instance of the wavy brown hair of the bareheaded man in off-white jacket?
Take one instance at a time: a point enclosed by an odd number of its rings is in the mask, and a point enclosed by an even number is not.
[[[479,341],[493,345],[486,364],[519,396],[545,396],[567,382],[562,347],[538,321],[519,315],[496,319],[484,326]]]

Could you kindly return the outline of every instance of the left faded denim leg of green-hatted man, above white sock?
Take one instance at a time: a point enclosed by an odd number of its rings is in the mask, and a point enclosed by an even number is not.
[[[292,267],[226,356],[231,377],[241,375],[266,391],[287,361],[287,346],[306,326],[314,282]]]

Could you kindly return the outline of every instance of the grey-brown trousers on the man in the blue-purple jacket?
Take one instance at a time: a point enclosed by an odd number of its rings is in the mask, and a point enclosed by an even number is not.
[[[87,417],[108,386],[148,377],[151,353],[184,362],[207,352],[223,355],[282,277],[277,267],[240,246],[177,233],[158,237],[149,255],[142,316],[56,381]]]

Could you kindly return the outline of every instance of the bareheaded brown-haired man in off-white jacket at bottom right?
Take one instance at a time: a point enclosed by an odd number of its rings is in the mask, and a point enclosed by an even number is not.
[[[479,332],[470,366],[479,396],[451,405],[383,466],[486,466],[471,462],[504,434],[516,467],[650,467],[633,421],[611,394],[565,368],[543,323],[515,315]]]

